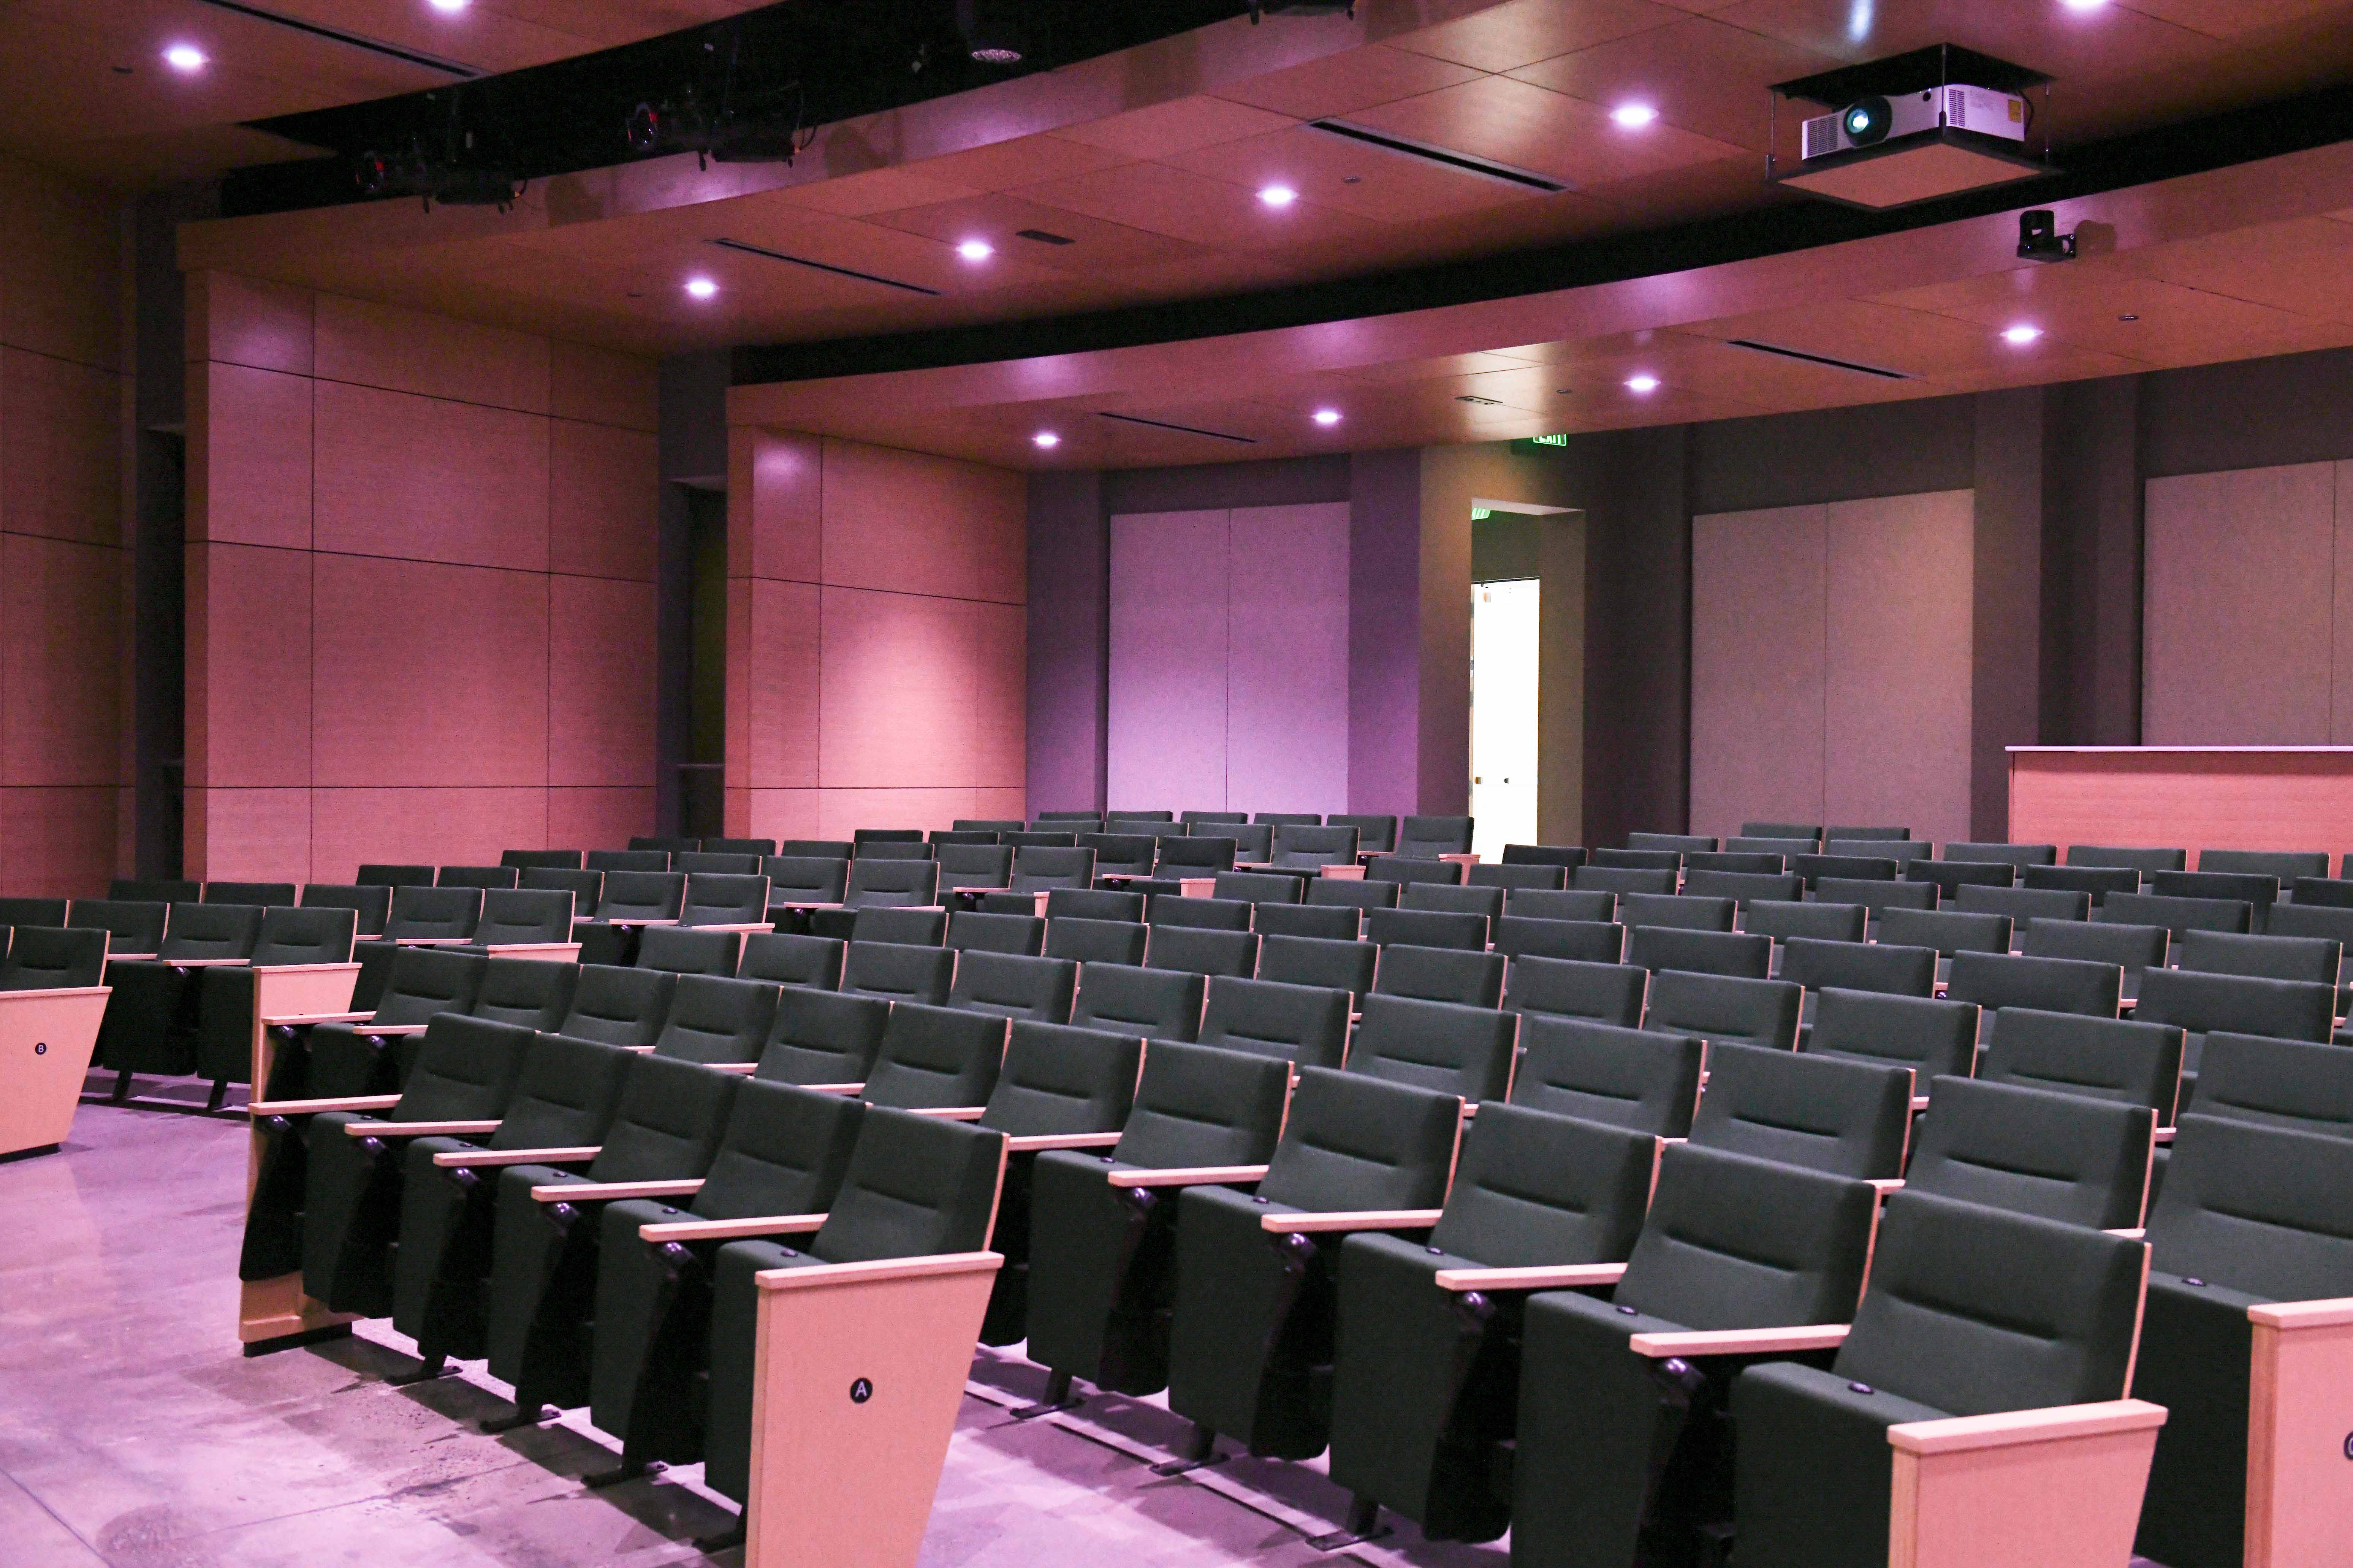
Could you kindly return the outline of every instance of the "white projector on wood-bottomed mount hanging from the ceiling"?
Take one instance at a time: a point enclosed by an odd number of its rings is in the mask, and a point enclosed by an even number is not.
[[[1908,207],[2054,169],[2028,153],[2038,71],[1934,45],[1781,82],[1774,94],[1831,106],[1805,120],[1798,167],[1774,172],[1849,207]]]

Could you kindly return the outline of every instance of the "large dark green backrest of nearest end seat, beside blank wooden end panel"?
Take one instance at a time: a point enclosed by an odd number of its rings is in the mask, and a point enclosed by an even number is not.
[[[1906,1187],[1833,1373],[1951,1415],[2122,1399],[2148,1248]]]

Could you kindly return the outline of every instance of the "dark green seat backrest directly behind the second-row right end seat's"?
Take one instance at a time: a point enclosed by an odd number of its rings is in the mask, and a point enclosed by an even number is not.
[[[2158,1117],[2146,1105],[2054,1095],[1962,1077],[1922,1081],[1934,1114],[1904,1166],[1934,1192],[2092,1229],[2134,1229]]]

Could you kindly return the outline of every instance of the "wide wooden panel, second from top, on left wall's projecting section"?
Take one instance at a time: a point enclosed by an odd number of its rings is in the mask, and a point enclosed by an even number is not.
[[[315,388],[318,550],[548,569],[546,418],[336,381]]]

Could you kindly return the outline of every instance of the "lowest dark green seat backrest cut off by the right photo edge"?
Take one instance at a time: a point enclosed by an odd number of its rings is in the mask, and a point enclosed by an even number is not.
[[[2353,1295],[2353,1143],[2181,1117],[2151,1267],[2264,1300]]]

